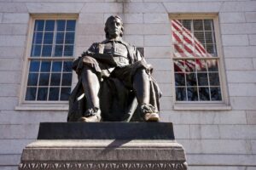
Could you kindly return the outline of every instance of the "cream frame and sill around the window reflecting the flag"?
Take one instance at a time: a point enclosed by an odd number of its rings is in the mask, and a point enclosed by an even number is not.
[[[211,19],[213,20],[214,34],[216,39],[216,48],[218,57],[218,74],[219,82],[221,88],[221,101],[177,101],[176,100],[176,89],[175,89],[175,77],[174,77],[174,46],[171,38],[172,44],[172,94],[173,94],[173,109],[174,110],[198,110],[198,111],[214,111],[214,110],[231,110],[230,99],[228,97],[226,75],[224,69],[224,54],[222,50],[221,34],[219,31],[219,21],[218,14],[169,14],[170,23],[172,20],[196,20],[196,19]],[[172,37],[172,29],[171,29]],[[185,58],[184,58],[185,59]],[[203,59],[203,58],[201,58]]]

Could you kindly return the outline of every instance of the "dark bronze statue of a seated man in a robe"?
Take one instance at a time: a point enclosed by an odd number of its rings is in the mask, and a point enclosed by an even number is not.
[[[121,18],[110,16],[107,39],[93,43],[73,62],[79,82],[70,95],[68,122],[124,121],[121,112],[129,112],[134,99],[134,111],[143,121],[159,121],[161,94],[152,68],[137,48],[122,40],[123,31]]]

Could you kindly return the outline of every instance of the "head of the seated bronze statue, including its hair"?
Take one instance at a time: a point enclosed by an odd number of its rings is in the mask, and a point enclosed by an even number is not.
[[[122,19],[118,16],[110,16],[105,23],[106,38],[123,37],[124,26]]]

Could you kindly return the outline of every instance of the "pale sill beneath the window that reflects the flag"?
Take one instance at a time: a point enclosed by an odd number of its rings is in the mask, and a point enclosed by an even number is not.
[[[225,104],[175,104],[175,111],[230,111],[230,105]]]

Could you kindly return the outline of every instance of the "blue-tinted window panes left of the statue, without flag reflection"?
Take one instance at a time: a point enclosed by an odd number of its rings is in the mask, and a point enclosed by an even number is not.
[[[67,100],[72,84],[76,20],[35,20],[26,101]]]

